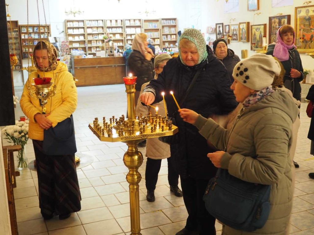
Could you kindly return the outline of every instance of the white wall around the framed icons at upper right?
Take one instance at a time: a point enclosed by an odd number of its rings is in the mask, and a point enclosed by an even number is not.
[[[277,13],[283,13],[283,15],[291,15],[291,25],[295,28],[295,7],[305,6],[305,1],[294,0],[293,5],[279,8],[272,8],[271,0],[260,0],[258,11],[247,11],[247,0],[239,0],[239,12],[238,13],[226,13],[224,14],[224,0],[218,2],[211,0],[207,8],[207,20],[205,21],[207,26],[213,26],[216,23],[224,24],[238,24],[239,22],[249,21],[252,24],[267,24],[267,43],[268,43],[268,17],[274,16]],[[311,4],[310,4],[311,5]],[[313,4],[312,4],[313,5]],[[254,13],[260,12],[260,15]],[[231,21],[231,18],[236,18],[235,21]],[[205,26],[205,27],[207,27]],[[246,49],[248,56],[254,54],[254,51],[250,50],[250,42],[231,42],[228,47],[241,58],[241,50]],[[314,82],[314,59],[309,55],[300,54],[303,68],[309,69],[310,74],[308,75],[307,81]]]

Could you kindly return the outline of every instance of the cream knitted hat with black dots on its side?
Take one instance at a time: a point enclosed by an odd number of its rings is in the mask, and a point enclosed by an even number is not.
[[[232,76],[244,86],[260,91],[270,86],[280,71],[279,62],[273,56],[257,53],[237,63]]]

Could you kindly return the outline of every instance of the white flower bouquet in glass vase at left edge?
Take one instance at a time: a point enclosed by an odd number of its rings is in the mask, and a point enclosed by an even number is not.
[[[15,125],[7,126],[2,129],[2,134],[5,136],[9,143],[19,144],[22,149],[19,150],[18,155],[18,168],[22,169],[27,167],[27,163],[24,159],[24,147],[28,141],[28,125],[29,120],[15,121]]]

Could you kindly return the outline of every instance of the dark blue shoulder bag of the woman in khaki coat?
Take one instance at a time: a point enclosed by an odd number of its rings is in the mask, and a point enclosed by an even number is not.
[[[262,228],[270,212],[270,185],[240,180],[219,169],[203,196],[209,214],[225,225],[246,232]]]

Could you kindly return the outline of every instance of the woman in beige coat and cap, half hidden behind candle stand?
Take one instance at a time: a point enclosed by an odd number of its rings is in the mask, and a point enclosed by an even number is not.
[[[155,57],[154,60],[154,70],[155,70],[155,79],[158,77],[166,65],[167,61],[171,59],[171,56],[168,54],[160,54]],[[149,82],[144,83],[142,85],[142,89],[140,94],[142,94],[145,86],[149,84]],[[162,117],[165,117],[165,108],[164,103],[159,102],[154,105],[158,107],[158,114]],[[149,112],[152,112],[154,115],[156,113],[156,109],[150,106],[145,106],[138,100],[136,106],[136,114],[143,113],[144,116],[148,115]],[[162,143],[158,140],[158,138],[149,138],[146,142],[146,170],[145,170],[145,180],[146,180],[146,189],[147,195],[146,200],[149,202],[155,201],[154,191],[156,188],[156,183],[158,180],[158,173],[161,166],[161,159],[167,158],[168,161],[168,182],[170,185],[170,191],[173,192],[177,197],[182,196],[182,191],[178,187],[179,182],[179,174],[174,169],[172,159],[170,158],[170,145]]]

